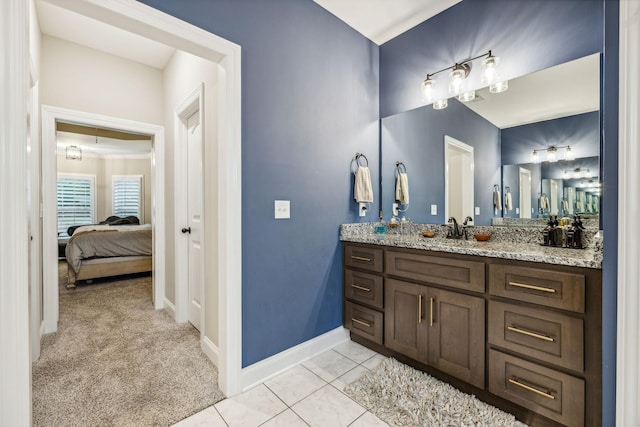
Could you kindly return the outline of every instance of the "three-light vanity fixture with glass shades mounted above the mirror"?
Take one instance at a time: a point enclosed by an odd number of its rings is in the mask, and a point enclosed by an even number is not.
[[[462,62],[457,62],[454,65],[443,68],[435,73],[427,74],[427,78],[422,82],[422,100],[427,104],[433,103],[433,108],[436,110],[441,110],[447,107],[448,103],[446,98],[438,100],[435,99],[435,80],[433,77],[449,70],[451,70],[451,74],[449,75],[449,94],[457,97],[461,102],[474,100],[476,98],[476,91],[473,89],[467,90],[466,83],[467,77],[471,72],[471,63],[480,58],[484,58],[481,69],[481,83],[483,85],[488,85],[489,92],[491,93],[500,93],[507,90],[509,88],[509,82],[507,80],[501,80],[498,70],[500,58],[493,56],[491,51],[488,51],[482,55],[478,55]]]

